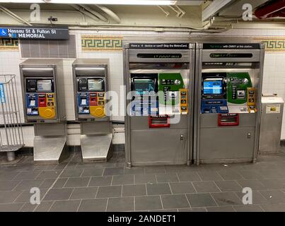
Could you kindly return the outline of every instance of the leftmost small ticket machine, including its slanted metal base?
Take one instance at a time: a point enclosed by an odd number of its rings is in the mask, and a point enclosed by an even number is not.
[[[68,157],[62,59],[27,59],[20,64],[25,122],[33,123],[35,164]]]

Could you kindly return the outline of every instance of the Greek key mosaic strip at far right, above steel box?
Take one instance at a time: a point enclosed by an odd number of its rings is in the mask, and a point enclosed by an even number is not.
[[[254,40],[263,42],[267,52],[285,52],[285,37],[258,37]]]

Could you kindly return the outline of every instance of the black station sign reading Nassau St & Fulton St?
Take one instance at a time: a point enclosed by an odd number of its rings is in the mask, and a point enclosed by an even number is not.
[[[68,40],[69,28],[66,26],[2,27],[0,37],[24,40]]]

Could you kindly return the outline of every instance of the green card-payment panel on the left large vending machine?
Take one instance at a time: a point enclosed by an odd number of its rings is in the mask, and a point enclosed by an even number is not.
[[[180,73],[159,73],[158,74],[158,91],[159,103],[161,105],[179,105],[179,89],[185,88]]]

